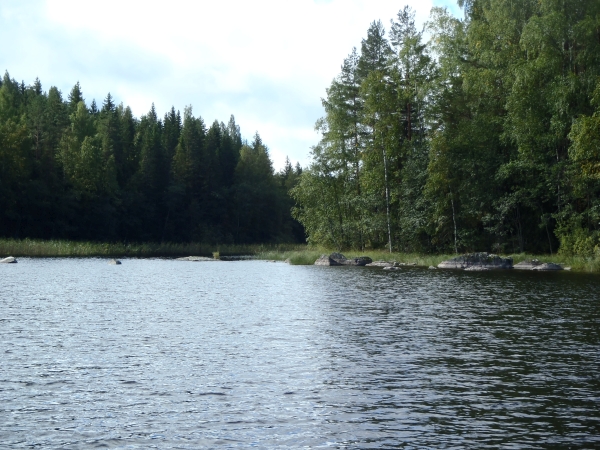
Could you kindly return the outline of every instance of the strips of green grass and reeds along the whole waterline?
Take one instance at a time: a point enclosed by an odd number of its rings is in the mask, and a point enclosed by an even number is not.
[[[31,257],[171,257],[180,256],[221,256],[252,255],[256,259],[286,261],[293,265],[311,265],[323,254],[333,250],[308,247],[299,244],[262,244],[262,245],[213,245],[172,242],[147,243],[101,243],[65,240],[39,239],[0,239],[0,258],[5,256]],[[440,262],[455,255],[424,255],[416,253],[389,253],[384,250],[367,250],[364,252],[344,252],[347,258],[368,256],[373,261],[396,261],[417,266],[437,266]],[[574,272],[600,273],[600,257],[596,256],[563,256],[532,255],[519,253],[505,255],[513,258],[515,264],[529,259],[543,262],[554,262],[571,267]]]

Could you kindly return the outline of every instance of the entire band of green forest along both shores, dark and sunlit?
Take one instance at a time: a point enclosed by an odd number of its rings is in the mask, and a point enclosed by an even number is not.
[[[600,2],[459,5],[371,24],[304,170],[233,116],[137,119],[7,73],[0,234],[600,255]]]

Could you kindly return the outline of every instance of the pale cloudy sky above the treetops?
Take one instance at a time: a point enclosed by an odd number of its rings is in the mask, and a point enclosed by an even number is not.
[[[108,92],[135,116],[191,105],[209,126],[233,114],[258,131],[274,167],[306,167],[319,141],[321,98],[369,24],[405,5],[423,24],[454,0],[2,0],[0,70],[66,98],[79,81],[89,105]]]

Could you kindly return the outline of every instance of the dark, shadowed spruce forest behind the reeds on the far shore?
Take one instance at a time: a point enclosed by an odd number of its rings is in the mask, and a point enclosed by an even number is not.
[[[88,106],[6,73],[0,82],[0,236],[216,244],[303,242],[289,189],[258,133],[191,107],[140,119],[110,94]]]

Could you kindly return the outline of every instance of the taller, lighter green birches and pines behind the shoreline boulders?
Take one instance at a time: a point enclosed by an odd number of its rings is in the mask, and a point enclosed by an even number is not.
[[[600,254],[600,2],[459,3],[372,23],[295,217],[340,249]]]

